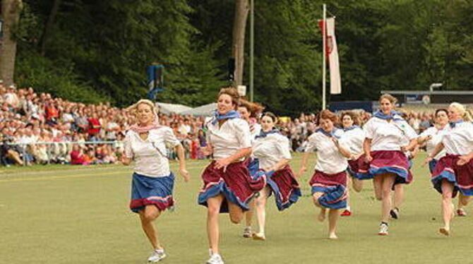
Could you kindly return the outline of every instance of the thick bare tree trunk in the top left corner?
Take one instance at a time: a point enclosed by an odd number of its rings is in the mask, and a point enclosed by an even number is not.
[[[16,58],[16,39],[14,33],[22,8],[23,2],[21,0],[1,1],[1,17],[4,20],[4,32],[0,49],[0,76],[6,85],[13,84]]]

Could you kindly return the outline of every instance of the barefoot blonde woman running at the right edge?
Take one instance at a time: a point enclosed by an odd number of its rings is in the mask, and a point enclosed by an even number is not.
[[[431,162],[445,149],[446,154],[438,160],[431,179],[433,187],[442,193],[444,225],[438,231],[445,236],[450,234],[450,222],[454,215],[452,198],[460,192],[460,203],[466,206],[473,196],[472,116],[462,104],[453,102],[448,107],[448,119],[450,124],[441,143],[438,143],[424,162]]]

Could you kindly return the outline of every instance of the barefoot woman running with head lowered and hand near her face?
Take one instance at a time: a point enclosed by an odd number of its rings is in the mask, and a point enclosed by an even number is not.
[[[338,140],[343,131],[335,128],[337,116],[323,110],[320,126],[309,136],[306,152],[302,157],[299,175],[306,172],[309,155],[317,151],[315,172],[311,178],[313,203],[321,208],[318,220],[323,222],[328,212],[328,238],[337,239],[336,228],[339,210],[347,207],[347,159],[352,157],[349,148]]]

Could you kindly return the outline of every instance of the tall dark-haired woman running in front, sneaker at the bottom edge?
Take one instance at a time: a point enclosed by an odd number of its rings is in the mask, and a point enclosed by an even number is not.
[[[230,221],[241,222],[254,193],[266,185],[265,176],[251,178],[244,162],[251,154],[249,124],[236,112],[239,95],[235,88],[222,88],[217,97],[217,111],[205,122],[208,147],[213,160],[202,174],[203,188],[198,203],[208,208],[207,233],[210,246],[208,264],[224,263],[219,253],[220,212],[229,212]]]

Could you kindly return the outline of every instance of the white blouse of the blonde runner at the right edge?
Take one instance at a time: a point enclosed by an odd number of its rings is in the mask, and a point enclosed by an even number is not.
[[[448,131],[442,138],[447,154],[467,155],[473,151],[473,124],[462,122],[455,125],[455,128],[448,126]]]

